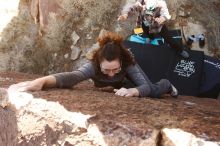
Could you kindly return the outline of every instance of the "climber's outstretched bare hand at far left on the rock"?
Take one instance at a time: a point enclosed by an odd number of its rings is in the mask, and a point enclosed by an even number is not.
[[[33,81],[21,82],[18,84],[13,84],[9,87],[10,91],[39,91],[43,88],[44,80],[36,79]]]

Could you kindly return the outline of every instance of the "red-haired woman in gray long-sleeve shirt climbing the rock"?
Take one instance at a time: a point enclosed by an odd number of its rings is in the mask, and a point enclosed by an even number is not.
[[[164,93],[177,96],[177,89],[166,79],[152,84],[135,62],[131,52],[122,45],[123,39],[116,33],[106,32],[98,38],[99,48],[93,58],[72,72],[62,72],[37,78],[33,81],[11,85],[11,90],[38,91],[43,88],[71,88],[77,83],[92,79],[96,87],[114,87],[118,96],[160,97]],[[123,87],[125,78],[135,86]]]

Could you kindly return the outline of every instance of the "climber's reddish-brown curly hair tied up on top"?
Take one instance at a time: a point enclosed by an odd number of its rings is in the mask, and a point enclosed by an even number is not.
[[[119,59],[125,68],[135,64],[133,55],[123,46],[123,38],[117,33],[105,32],[97,41],[99,48],[93,54],[92,61],[98,68],[103,59],[107,61]]]

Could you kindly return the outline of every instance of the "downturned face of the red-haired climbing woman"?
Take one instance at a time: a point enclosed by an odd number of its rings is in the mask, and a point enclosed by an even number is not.
[[[101,72],[108,75],[109,77],[114,77],[115,74],[121,71],[121,63],[119,59],[112,61],[103,60],[100,63]]]

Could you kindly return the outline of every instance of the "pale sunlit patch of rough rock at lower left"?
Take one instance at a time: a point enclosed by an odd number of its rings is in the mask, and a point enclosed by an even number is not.
[[[86,130],[89,117],[69,112],[56,102],[34,99],[18,115],[18,145],[62,145],[66,138]]]

